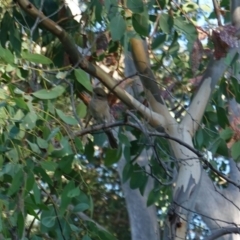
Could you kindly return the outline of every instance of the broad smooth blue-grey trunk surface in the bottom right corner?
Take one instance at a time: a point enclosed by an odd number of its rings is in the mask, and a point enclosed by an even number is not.
[[[230,176],[231,179],[237,180],[234,178],[232,166]],[[221,228],[236,227],[240,224],[240,192],[235,186],[229,184],[228,188],[219,189],[204,171],[198,196],[196,204],[191,211],[202,217],[211,232],[221,230]],[[209,237],[211,237],[211,234]],[[218,239],[239,240],[240,235],[228,234]]]

